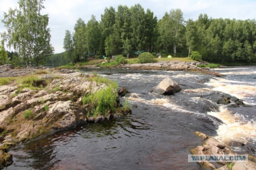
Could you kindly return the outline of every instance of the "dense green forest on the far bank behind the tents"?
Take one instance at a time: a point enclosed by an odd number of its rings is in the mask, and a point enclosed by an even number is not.
[[[166,12],[158,20],[140,4],[128,8],[105,8],[101,20],[92,15],[87,23],[78,18],[74,30],[66,30],[64,53],[55,54],[47,65],[84,61],[88,57],[147,51],[189,57],[213,63],[256,63],[256,20],[214,19],[200,14],[184,20],[180,9]]]

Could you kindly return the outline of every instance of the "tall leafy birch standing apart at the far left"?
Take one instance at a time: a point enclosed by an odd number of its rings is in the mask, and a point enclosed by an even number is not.
[[[44,63],[54,49],[50,44],[50,29],[47,28],[49,17],[41,15],[44,0],[19,0],[19,9],[4,12],[4,27],[7,32],[2,37],[8,47],[18,51],[27,65],[38,66]]]

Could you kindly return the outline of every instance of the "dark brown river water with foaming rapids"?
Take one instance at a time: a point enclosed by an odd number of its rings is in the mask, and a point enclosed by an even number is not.
[[[10,150],[7,169],[200,169],[188,162],[190,149],[202,145],[200,131],[229,144],[238,153],[256,149],[256,67],[214,69],[216,78],[188,71],[87,68],[115,80],[131,94],[132,114],[104,123],[61,131]],[[173,96],[150,92],[167,76],[180,84]],[[247,107],[218,105],[205,96],[224,92],[244,100]]]

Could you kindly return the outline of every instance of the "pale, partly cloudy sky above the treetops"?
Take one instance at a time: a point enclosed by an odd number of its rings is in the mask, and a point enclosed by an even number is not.
[[[180,8],[185,20],[189,18],[196,20],[199,14],[207,14],[212,18],[235,18],[236,20],[255,19],[256,0],[46,0],[42,11],[49,15],[49,25],[51,29],[51,43],[55,53],[61,53],[63,49],[63,39],[65,30],[74,30],[74,25],[78,18],[87,23],[91,15],[96,16],[100,21],[100,15],[104,9],[110,6],[117,10],[118,5],[128,7],[140,4],[144,10],[150,9],[159,19],[165,12],[171,9]],[[0,1],[0,20],[3,19],[3,12],[8,12],[9,8],[18,7],[18,0]],[[0,22],[0,32],[5,29]],[[9,50],[9,49],[7,49]]]

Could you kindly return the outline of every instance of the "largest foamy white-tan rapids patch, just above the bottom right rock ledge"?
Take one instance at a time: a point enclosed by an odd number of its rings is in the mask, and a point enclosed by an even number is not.
[[[241,143],[256,143],[256,122],[245,122],[239,114],[232,114],[228,109],[220,107],[219,112],[208,112],[224,123],[218,127],[217,136],[214,137],[223,143],[238,141]]]

